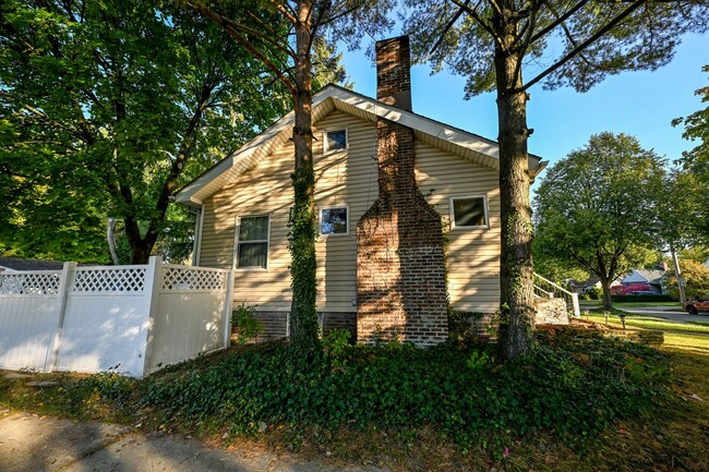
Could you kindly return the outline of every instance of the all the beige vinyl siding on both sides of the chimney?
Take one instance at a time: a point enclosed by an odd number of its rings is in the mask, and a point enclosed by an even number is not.
[[[324,130],[347,129],[348,149],[323,155]],[[314,126],[315,204],[348,207],[349,234],[320,235],[317,307],[353,312],[357,298],[357,222],[377,195],[376,128],[341,111]],[[418,142],[417,179],[426,199],[443,216],[447,231],[448,291],[460,310],[492,313],[498,305],[500,192],[497,172]],[[288,141],[259,160],[205,204],[200,264],[231,267],[238,216],[271,215],[268,268],[237,269],[235,302],[260,311],[290,308],[288,210],[292,203],[290,173],[293,146]],[[450,196],[488,196],[490,229],[449,230]]]

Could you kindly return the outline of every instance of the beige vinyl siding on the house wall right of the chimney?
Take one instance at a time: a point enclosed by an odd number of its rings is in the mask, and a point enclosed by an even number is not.
[[[493,313],[500,305],[497,171],[417,142],[417,182],[444,221],[448,296],[458,310]],[[488,196],[490,228],[450,230],[449,198]]]

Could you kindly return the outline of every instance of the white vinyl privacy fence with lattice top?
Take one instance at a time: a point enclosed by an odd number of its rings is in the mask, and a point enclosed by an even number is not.
[[[142,377],[226,348],[229,270],[164,265],[0,273],[0,368]]]

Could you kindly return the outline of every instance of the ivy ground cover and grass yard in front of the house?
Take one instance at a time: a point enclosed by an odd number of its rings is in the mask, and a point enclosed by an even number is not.
[[[709,336],[672,326],[660,352],[561,331],[508,364],[491,348],[390,344],[339,347],[299,373],[280,344],[238,347],[140,382],[0,376],[0,409],[393,471],[706,472]]]

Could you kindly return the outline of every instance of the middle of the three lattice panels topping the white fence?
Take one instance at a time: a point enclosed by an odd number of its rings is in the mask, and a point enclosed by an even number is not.
[[[146,268],[77,269],[72,292],[142,292]]]

